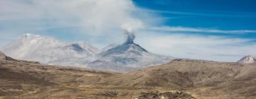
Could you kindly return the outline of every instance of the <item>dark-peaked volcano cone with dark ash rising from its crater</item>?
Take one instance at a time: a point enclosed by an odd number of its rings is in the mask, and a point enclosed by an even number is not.
[[[115,71],[141,69],[147,66],[164,64],[174,59],[173,57],[148,52],[143,47],[134,43],[133,34],[128,34],[126,42],[122,45],[109,45],[102,50],[102,52],[97,54],[96,57],[97,60],[91,62],[88,67],[109,70],[114,69]]]

